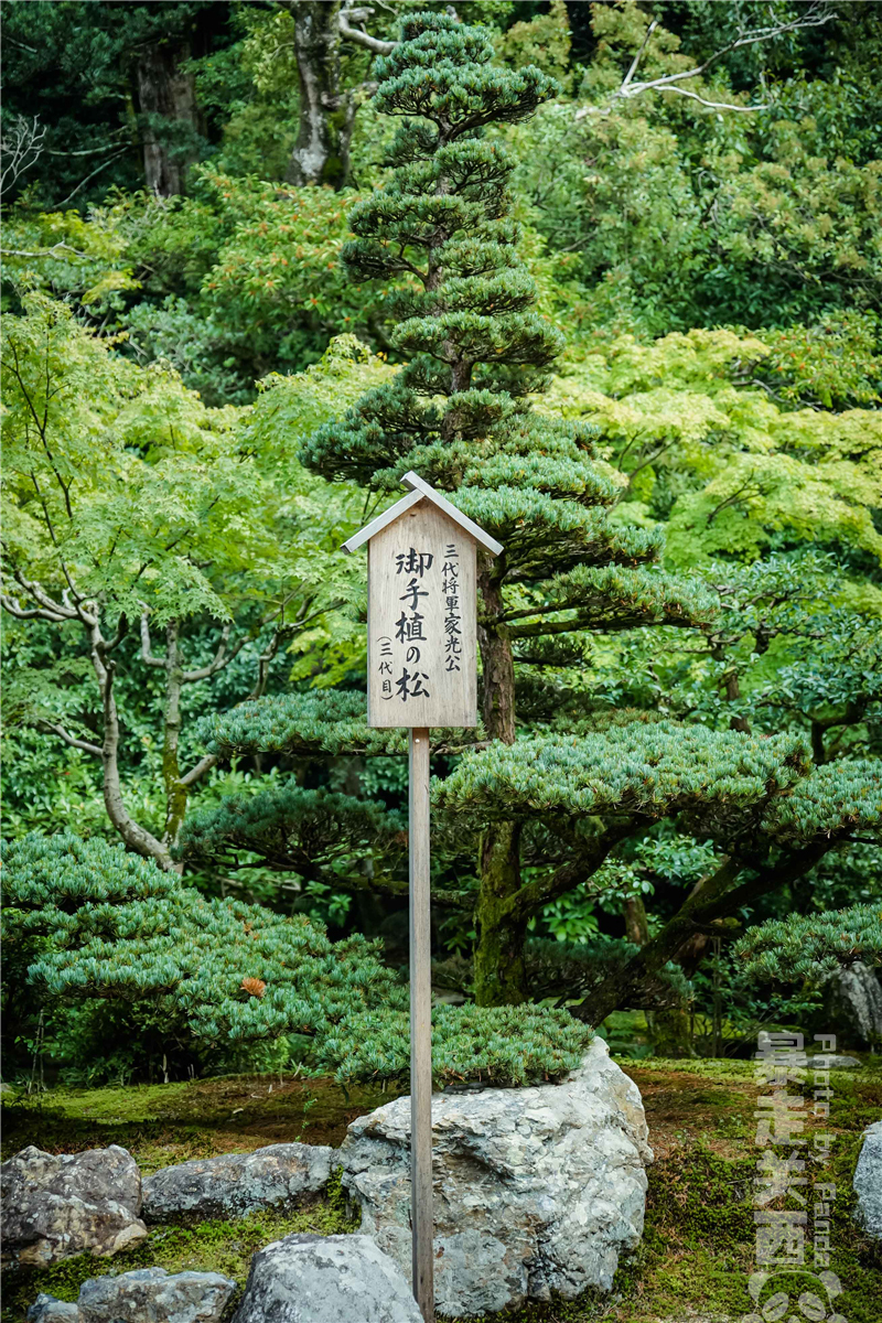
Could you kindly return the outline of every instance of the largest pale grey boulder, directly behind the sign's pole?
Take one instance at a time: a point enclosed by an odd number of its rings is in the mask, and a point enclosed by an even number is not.
[[[432,1139],[439,1312],[610,1289],[643,1232],[652,1151],[602,1039],[559,1085],[436,1094]],[[353,1121],[340,1159],[361,1230],[410,1279],[410,1098]]]

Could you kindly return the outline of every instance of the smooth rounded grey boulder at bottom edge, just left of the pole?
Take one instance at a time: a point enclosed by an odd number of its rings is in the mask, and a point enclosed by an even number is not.
[[[368,1236],[295,1233],[254,1256],[233,1323],[422,1323],[422,1314]]]

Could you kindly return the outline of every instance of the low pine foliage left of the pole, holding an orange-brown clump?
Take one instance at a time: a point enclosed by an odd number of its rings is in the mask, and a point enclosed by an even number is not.
[[[70,832],[3,849],[5,931],[44,937],[38,994],[159,1004],[182,1041],[320,1035],[346,1015],[401,1007],[406,990],[361,935],[261,905],[206,900],[152,860]]]

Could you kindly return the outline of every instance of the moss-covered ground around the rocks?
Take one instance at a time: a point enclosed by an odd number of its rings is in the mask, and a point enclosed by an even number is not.
[[[651,1058],[623,1060],[620,1065],[643,1093],[656,1154],[640,1249],[621,1262],[611,1295],[553,1301],[495,1315],[496,1323],[717,1323],[741,1319],[752,1308],[747,1295],[755,1266],[751,1180],[759,1152],[754,1111],[759,1093],[767,1090],[754,1084],[750,1062]],[[830,1269],[842,1283],[842,1294],[829,1314],[836,1311],[848,1323],[878,1323],[882,1257],[878,1242],[852,1221],[852,1175],[861,1131],[882,1115],[882,1062],[870,1061],[861,1072],[837,1070],[832,1088],[829,1121],[808,1123],[809,1140],[815,1131],[833,1135],[830,1156],[816,1168],[815,1177],[833,1181],[838,1191]],[[811,1095],[809,1086],[805,1093]],[[41,1101],[22,1099],[4,1109],[4,1154],[26,1143],[56,1152],[120,1143],[149,1172],[192,1156],[298,1138],[336,1144],[353,1117],[381,1101],[378,1090],[346,1095],[325,1080],[280,1084],[266,1076],[53,1091]],[[778,1200],[770,1207],[796,1204]],[[169,1271],[222,1271],[243,1285],[251,1254],[262,1245],[292,1230],[328,1234],[352,1229],[339,1187],[332,1183],[327,1197],[294,1215],[152,1228],[148,1241],[112,1263],[81,1256],[52,1269],[7,1271],[3,1316],[9,1323],[24,1318],[25,1306],[41,1290],[75,1299],[87,1277],[151,1263]],[[803,1290],[812,1290],[812,1281],[791,1277],[778,1286],[793,1302],[785,1319],[792,1312],[801,1320],[796,1299]]]

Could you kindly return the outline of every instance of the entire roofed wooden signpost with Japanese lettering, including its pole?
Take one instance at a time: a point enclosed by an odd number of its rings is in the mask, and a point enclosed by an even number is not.
[[[344,542],[368,544],[368,725],[406,726],[410,812],[410,1152],[414,1295],[430,1323],[432,1028],[428,728],[477,725],[476,554],[501,545],[417,474]]]

